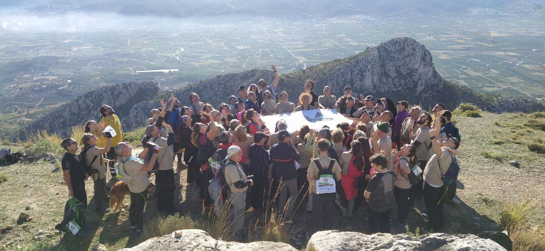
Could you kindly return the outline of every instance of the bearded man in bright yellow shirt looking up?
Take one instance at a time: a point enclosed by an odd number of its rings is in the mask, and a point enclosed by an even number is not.
[[[116,111],[111,106],[108,105],[102,105],[100,107],[100,115],[102,119],[100,120],[99,124],[104,122],[105,126],[111,126],[114,131],[116,131],[116,136],[112,137],[112,143],[111,145],[115,146],[119,142],[123,142],[125,140],[125,135],[123,134],[123,128],[121,126],[121,121],[117,117]],[[105,148],[106,146],[106,139],[104,137],[100,137],[99,142],[97,143],[99,148]],[[111,147],[110,150],[106,153],[106,158],[110,160],[108,163],[108,168],[110,169],[110,174],[112,177],[116,176],[116,169],[113,168],[113,164],[115,163],[115,158],[117,157],[116,152],[114,151],[114,147]]]

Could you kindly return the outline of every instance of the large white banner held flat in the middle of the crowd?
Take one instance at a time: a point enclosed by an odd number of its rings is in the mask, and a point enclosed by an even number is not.
[[[335,109],[314,109],[308,111],[283,113],[269,116],[262,116],[261,120],[271,132],[274,132],[276,121],[286,120],[288,132],[300,130],[302,125],[308,125],[311,129],[320,130],[324,125],[329,126],[331,130],[337,127],[337,124],[347,122],[352,124],[352,120],[345,118]]]

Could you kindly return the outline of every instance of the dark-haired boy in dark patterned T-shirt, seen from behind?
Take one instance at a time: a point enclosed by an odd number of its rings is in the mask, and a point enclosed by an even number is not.
[[[395,201],[393,188],[397,176],[392,170],[388,170],[389,165],[389,157],[381,154],[371,156],[374,172],[364,192],[364,198],[369,204],[367,218],[370,235],[377,232],[390,233],[390,211]]]

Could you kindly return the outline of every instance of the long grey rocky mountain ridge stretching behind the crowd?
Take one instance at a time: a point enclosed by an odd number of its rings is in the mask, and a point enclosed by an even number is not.
[[[189,94],[195,92],[201,96],[202,101],[217,107],[221,102],[226,102],[229,95],[236,93],[239,85],[248,87],[251,83],[257,83],[259,78],[264,78],[269,84],[274,81],[272,71],[252,69],[187,84],[174,91],[174,94],[181,105],[189,105]],[[314,81],[316,85],[314,90],[318,95],[322,94],[323,87],[328,84],[333,94],[338,97],[342,95],[344,87],[349,85],[357,94],[405,100],[412,104],[419,104],[423,108],[442,102],[447,109],[452,110],[459,103],[470,102],[485,111],[495,113],[545,110],[545,106],[537,101],[481,94],[445,81],[435,70],[432,55],[425,46],[407,37],[390,39],[348,58],[332,60],[305,70],[281,75],[277,92],[286,90],[290,94],[289,100],[297,102],[297,94],[303,90],[303,83],[307,78]],[[99,99],[100,93],[111,93],[112,90],[123,89],[130,94],[128,97],[117,91],[115,95],[112,94],[107,99]],[[124,130],[135,130],[144,125],[149,110],[159,106],[154,100],[159,95],[162,94],[158,85],[152,82],[123,83],[103,87],[89,91],[43,118],[33,121],[26,130],[33,132],[43,129],[47,132],[66,135],[70,126],[85,123],[93,118],[92,114],[95,114],[95,119],[99,118],[98,107],[102,103],[108,103],[117,109]],[[113,96],[120,100],[114,99]],[[85,106],[82,100],[89,100],[90,103]],[[77,114],[77,112],[67,115],[63,109],[70,107],[77,107],[76,111],[85,115]],[[63,118],[61,121],[65,124],[51,119],[57,117]],[[68,120],[66,117],[75,119]]]

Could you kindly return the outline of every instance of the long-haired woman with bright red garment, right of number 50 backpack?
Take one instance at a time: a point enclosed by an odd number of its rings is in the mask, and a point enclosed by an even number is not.
[[[352,216],[355,198],[358,196],[358,177],[361,176],[365,165],[362,148],[361,143],[355,140],[350,151],[343,152],[339,157],[342,168],[341,186],[344,191],[344,198],[341,198],[343,217]]]

